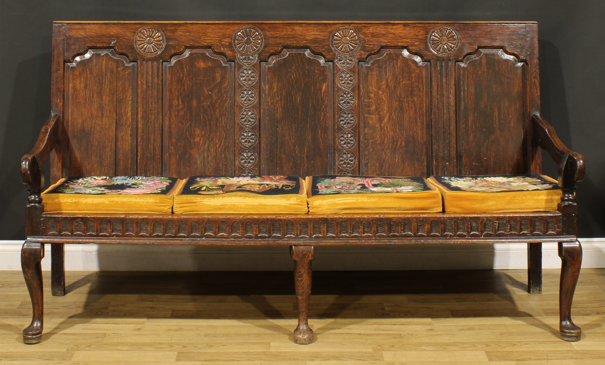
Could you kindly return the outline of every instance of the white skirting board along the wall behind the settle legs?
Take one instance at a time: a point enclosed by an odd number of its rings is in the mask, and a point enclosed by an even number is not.
[[[605,268],[605,238],[580,238],[583,268]],[[0,241],[0,270],[21,270],[21,241]],[[50,270],[50,245],[42,269]],[[560,268],[543,243],[543,268]],[[288,246],[65,245],[65,269],[82,271],[289,271]],[[525,269],[525,243],[315,246],[313,270]]]

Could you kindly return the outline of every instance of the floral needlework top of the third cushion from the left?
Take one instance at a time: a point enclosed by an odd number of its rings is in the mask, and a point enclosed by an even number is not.
[[[420,177],[313,176],[312,195],[429,190]]]

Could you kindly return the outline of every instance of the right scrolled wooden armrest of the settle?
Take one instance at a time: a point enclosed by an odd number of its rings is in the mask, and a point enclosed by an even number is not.
[[[561,188],[572,188],[584,179],[584,157],[569,150],[557,137],[554,128],[540,114],[532,116],[532,136],[538,146],[548,151],[559,165],[558,181]]]

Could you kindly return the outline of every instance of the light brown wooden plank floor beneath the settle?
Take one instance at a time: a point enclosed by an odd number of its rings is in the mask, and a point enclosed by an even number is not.
[[[605,364],[605,269],[583,269],[558,338],[558,270],[315,272],[315,343],[293,343],[291,272],[68,272],[42,343],[21,272],[0,272],[0,364]]]

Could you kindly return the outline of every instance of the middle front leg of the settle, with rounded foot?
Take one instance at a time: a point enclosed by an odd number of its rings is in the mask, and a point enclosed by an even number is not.
[[[298,326],[294,330],[294,342],[310,344],[313,342],[313,330],[309,328],[307,315],[311,297],[313,246],[290,246],[290,255],[294,260],[294,287],[298,304]]]

